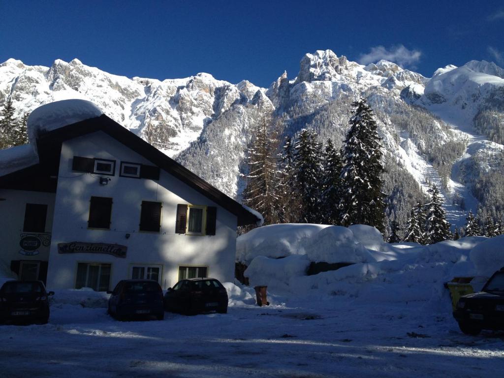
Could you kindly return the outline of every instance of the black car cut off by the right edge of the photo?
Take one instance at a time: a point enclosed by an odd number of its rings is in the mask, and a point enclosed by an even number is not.
[[[462,296],[453,316],[468,335],[504,330],[504,268],[495,272],[480,292]]]

